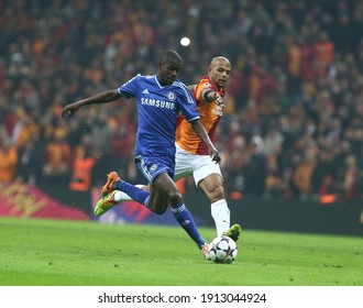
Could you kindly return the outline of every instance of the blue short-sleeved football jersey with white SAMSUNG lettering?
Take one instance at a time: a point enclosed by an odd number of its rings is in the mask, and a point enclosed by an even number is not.
[[[163,87],[156,75],[139,74],[118,90],[125,98],[136,99],[139,128],[135,156],[172,155],[174,158],[177,114],[182,111],[187,121],[200,118],[189,89],[179,80]]]

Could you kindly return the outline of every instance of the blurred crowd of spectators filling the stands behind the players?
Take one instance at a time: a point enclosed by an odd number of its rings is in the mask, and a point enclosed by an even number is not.
[[[362,33],[362,0],[0,0],[0,182],[144,183],[132,101],[61,112],[174,48],[187,85],[231,61],[215,141],[228,196],[361,200]]]

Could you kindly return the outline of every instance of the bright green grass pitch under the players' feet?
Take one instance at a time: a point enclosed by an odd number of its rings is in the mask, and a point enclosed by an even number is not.
[[[0,235],[2,286],[363,285],[358,237],[243,230],[216,264],[177,227],[0,218]]]

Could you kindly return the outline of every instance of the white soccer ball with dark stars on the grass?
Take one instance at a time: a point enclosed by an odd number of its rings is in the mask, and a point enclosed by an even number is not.
[[[210,243],[209,257],[216,263],[232,263],[237,257],[238,248],[229,237],[218,237]]]

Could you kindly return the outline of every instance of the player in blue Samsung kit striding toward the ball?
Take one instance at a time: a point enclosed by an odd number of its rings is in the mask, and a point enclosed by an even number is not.
[[[182,65],[180,55],[173,50],[167,50],[160,57],[156,75],[139,74],[118,89],[107,90],[69,103],[63,109],[62,117],[73,116],[82,106],[107,103],[121,98],[135,98],[139,117],[134,148],[135,163],[152,185],[152,189],[148,193],[120,179],[117,175],[113,177],[109,175],[107,184],[102,187],[102,195],[107,197],[107,194],[114,189],[122,190],[157,215],[163,215],[170,206],[177,222],[208,258],[209,244],[200,235],[174,182],[176,117],[180,111],[207,145],[212,161],[219,163],[220,156],[199,121],[200,113],[190,90],[176,78]]]

